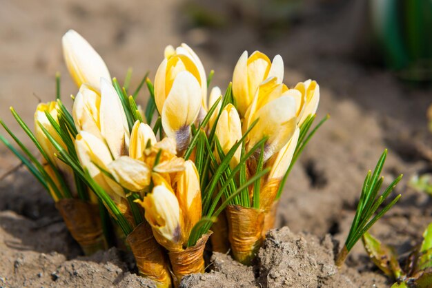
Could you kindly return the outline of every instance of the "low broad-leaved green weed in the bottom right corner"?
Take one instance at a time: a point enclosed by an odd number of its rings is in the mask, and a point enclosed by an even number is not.
[[[393,247],[382,244],[369,233],[364,234],[362,240],[373,263],[396,280],[392,287],[432,287],[432,223],[424,230],[422,243],[406,258],[404,269]]]

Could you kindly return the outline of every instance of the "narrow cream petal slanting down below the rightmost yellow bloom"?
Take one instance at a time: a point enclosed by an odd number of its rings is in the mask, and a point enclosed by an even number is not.
[[[293,159],[295,147],[297,146],[297,141],[299,139],[300,129],[299,127],[295,128],[295,132],[293,137],[291,137],[290,141],[286,143],[286,145],[277,153],[277,157],[273,166],[271,167],[271,171],[268,174],[268,179],[271,180],[273,178],[282,178],[285,175],[286,170],[288,170],[289,165],[291,164],[291,160]]]

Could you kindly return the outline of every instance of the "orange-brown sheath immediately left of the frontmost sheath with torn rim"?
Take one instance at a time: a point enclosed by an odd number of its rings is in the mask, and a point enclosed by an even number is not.
[[[139,276],[155,281],[157,287],[171,287],[168,260],[146,221],[128,235],[126,242],[137,262]]]

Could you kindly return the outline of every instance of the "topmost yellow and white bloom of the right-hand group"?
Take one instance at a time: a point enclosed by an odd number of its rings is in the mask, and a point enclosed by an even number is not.
[[[233,98],[240,116],[244,117],[258,86],[268,77],[276,77],[277,83],[282,83],[284,62],[281,56],[276,55],[273,63],[259,51],[249,57],[245,51],[240,56],[233,73]]]

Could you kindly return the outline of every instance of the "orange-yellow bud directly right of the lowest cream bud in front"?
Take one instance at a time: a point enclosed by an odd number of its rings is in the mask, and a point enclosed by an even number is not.
[[[184,171],[175,178],[175,195],[184,216],[184,234],[189,238],[190,230],[199,221],[202,213],[199,175],[193,161],[184,162]]]

